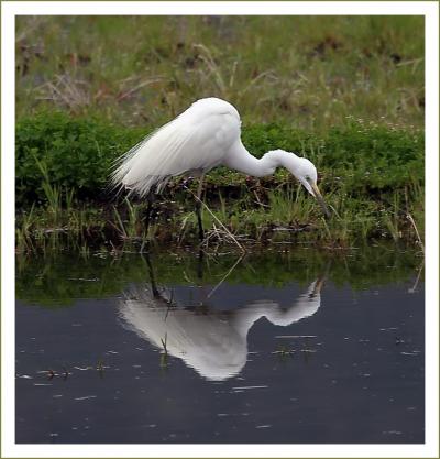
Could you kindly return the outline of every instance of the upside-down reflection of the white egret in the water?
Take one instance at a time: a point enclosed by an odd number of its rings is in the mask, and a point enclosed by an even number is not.
[[[289,307],[264,299],[233,310],[219,310],[206,302],[185,307],[173,299],[169,289],[157,286],[151,261],[146,261],[151,282],[132,286],[124,295],[119,306],[123,325],[207,380],[223,381],[241,372],[248,360],[249,330],[260,318],[288,326],[312,316],[321,305],[326,276],[314,281]]]

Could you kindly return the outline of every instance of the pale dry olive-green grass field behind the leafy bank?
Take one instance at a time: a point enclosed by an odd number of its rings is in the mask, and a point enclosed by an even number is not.
[[[160,125],[226,98],[244,123],[424,125],[422,17],[19,17],[16,112]]]

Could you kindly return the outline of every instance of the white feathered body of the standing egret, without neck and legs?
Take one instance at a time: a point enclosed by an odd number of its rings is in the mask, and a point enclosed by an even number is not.
[[[130,150],[113,183],[145,196],[154,187],[161,190],[172,176],[205,173],[222,163],[240,139],[240,124],[229,102],[200,99]]]

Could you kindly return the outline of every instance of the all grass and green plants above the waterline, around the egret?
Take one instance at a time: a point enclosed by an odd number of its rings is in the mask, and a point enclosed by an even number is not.
[[[315,162],[334,211],[324,221],[286,171],[217,168],[204,198],[238,240],[422,249],[424,72],[421,17],[20,17],[18,251],[197,241],[182,179],[146,231],[145,203],[116,198],[108,178],[119,155],[206,96],[239,108],[256,156],[280,147]],[[202,217],[206,244],[228,241]]]

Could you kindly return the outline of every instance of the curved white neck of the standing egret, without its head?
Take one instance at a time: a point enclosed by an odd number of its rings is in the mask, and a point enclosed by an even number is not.
[[[286,167],[292,174],[296,175],[299,165],[299,157],[295,153],[284,150],[272,150],[263,157],[253,156],[241,142],[238,142],[230,150],[224,164],[228,167],[243,172],[255,177],[272,175],[278,166]]]

